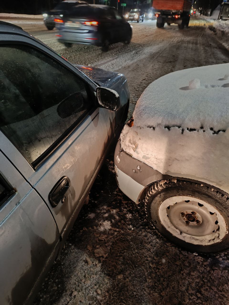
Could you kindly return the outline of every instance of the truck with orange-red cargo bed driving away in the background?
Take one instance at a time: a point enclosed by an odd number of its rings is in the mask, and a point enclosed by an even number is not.
[[[179,29],[188,27],[192,0],[153,0],[157,17],[157,27],[164,27],[165,22],[178,24]]]

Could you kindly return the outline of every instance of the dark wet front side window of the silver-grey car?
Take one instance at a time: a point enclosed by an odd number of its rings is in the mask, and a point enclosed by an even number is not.
[[[29,46],[0,56],[0,130],[33,163],[92,108],[88,85]]]

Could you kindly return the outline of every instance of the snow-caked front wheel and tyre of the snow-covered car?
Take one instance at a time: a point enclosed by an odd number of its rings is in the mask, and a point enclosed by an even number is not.
[[[229,198],[214,188],[179,179],[154,182],[145,212],[162,236],[188,251],[229,249]]]

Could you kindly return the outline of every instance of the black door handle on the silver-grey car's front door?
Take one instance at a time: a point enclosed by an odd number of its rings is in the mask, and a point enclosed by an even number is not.
[[[71,181],[67,176],[60,178],[49,193],[49,202],[51,203],[51,206],[57,206],[60,200],[62,203],[66,201],[64,194],[67,192],[70,185]]]

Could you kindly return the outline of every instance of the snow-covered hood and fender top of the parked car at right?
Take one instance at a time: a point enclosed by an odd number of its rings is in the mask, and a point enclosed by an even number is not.
[[[163,174],[229,192],[229,64],[176,71],[151,83],[121,134],[124,151]]]

